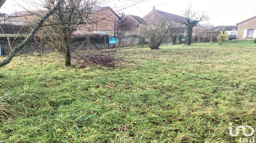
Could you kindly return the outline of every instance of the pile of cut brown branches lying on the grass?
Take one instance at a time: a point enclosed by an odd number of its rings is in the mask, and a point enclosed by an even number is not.
[[[90,65],[116,67],[124,63],[124,60],[117,58],[112,54],[103,53],[82,53],[73,55],[72,59],[76,64],[79,64],[80,67],[87,67]]]

